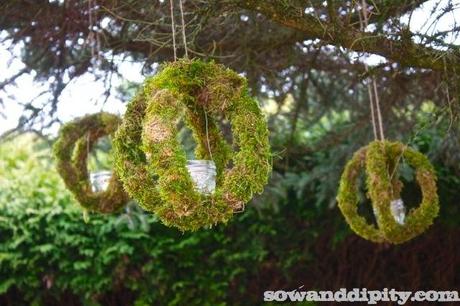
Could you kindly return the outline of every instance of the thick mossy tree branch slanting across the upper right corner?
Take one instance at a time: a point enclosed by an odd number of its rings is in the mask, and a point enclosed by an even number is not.
[[[235,5],[235,2],[233,2]],[[320,39],[325,43],[357,52],[368,52],[398,62],[402,66],[443,71],[446,66],[460,72],[458,50],[440,51],[414,43],[412,33],[401,33],[398,39],[384,33],[362,32],[350,25],[322,21],[317,16],[306,14],[304,8],[291,1],[240,0],[240,8],[252,10],[286,27],[305,34],[305,39]],[[402,35],[405,34],[405,35]]]

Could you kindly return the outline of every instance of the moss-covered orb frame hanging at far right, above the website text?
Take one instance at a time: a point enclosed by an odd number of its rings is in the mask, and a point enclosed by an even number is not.
[[[402,183],[397,178],[401,158],[415,168],[422,191],[422,202],[411,210],[405,224],[396,222],[390,211],[392,200],[400,197]],[[358,214],[357,179],[362,168],[367,175],[368,196],[376,215],[377,227]],[[403,243],[423,233],[439,212],[436,175],[423,154],[399,142],[374,141],[361,148],[347,163],[337,196],[339,208],[353,231],[374,242]]]

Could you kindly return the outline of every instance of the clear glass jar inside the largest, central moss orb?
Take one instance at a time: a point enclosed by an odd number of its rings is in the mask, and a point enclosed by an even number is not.
[[[216,189],[216,164],[212,160],[188,160],[187,170],[197,191],[203,194],[214,192]]]

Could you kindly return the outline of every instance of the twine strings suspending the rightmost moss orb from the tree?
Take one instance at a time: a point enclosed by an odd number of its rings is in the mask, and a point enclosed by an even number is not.
[[[358,12],[358,17],[359,17],[360,29],[361,31],[364,32],[365,27],[367,27],[368,25],[367,4],[365,0],[361,1],[361,6],[362,6],[363,17],[361,18],[360,12]],[[364,62],[364,69],[366,71],[366,74],[369,75],[369,67],[366,62]],[[369,94],[369,103],[370,103],[370,108],[371,108],[371,120],[372,120],[372,127],[374,131],[374,139],[380,138],[380,140],[385,140],[385,136],[383,133],[382,113],[380,111],[380,99],[379,99],[378,90],[377,90],[377,82],[373,76],[370,76],[370,79],[371,79],[370,82],[367,83],[367,90]]]

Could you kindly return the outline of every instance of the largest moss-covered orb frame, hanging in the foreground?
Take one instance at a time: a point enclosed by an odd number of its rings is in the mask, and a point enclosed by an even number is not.
[[[236,152],[213,119],[220,116],[231,123]],[[193,131],[196,157],[216,163],[213,194],[196,191],[186,169],[176,127],[182,117]],[[227,222],[263,191],[271,171],[266,121],[246,80],[199,60],[169,63],[147,80],[128,105],[114,144],[126,190],[166,225],[181,230]],[[227,168],[230,161],[233,167]]]

